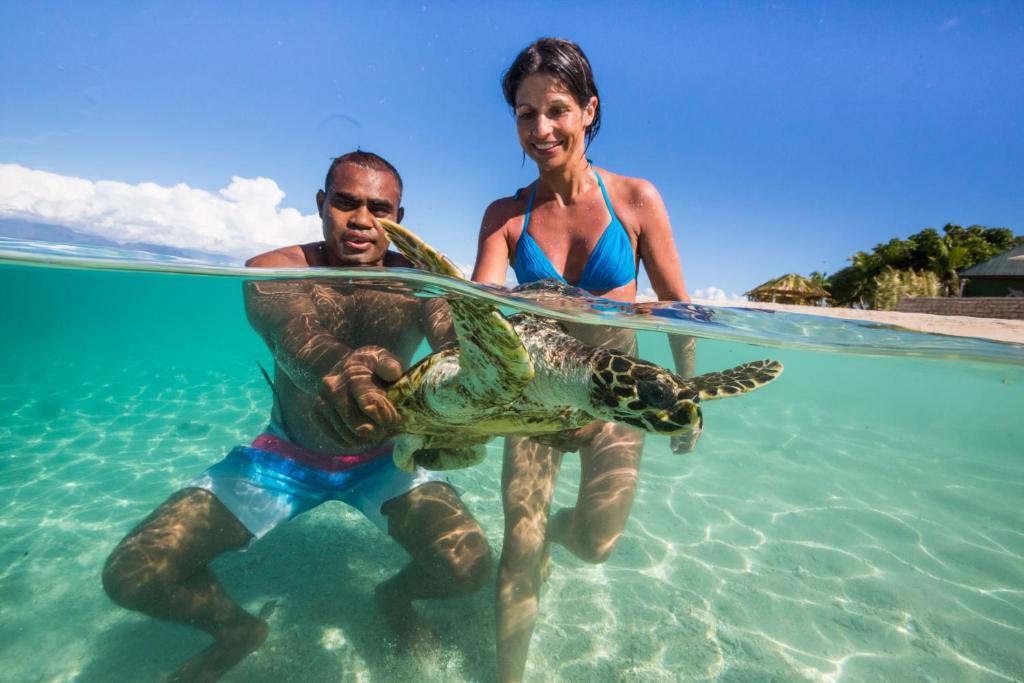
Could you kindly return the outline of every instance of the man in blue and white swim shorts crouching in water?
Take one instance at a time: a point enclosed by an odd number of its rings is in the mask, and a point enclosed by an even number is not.
[[[366,152],[339,157],[316,195],[324,241],[246,265],[409,266],[376,222],[400,221],[400,202],[401,178],[388,162]],[[444,302],[326,278],[245,290],[249,319],[274,357],[270,426],[157,508],[103,571],[119,604],[214,637],[175,672],[179,680],[216,680],[266,638],[264,615],[233,602],[210,561],[328,500],[359,509],[413,558],[376,594],[399,645],[422,635],[414,600],[472,591],[489,573],[486,539],[453,488],[432,472],[401,472],[382,444],[399,421],[383,384],[400,377],[424,336],[434,348],[454,339]]]

